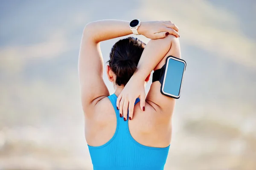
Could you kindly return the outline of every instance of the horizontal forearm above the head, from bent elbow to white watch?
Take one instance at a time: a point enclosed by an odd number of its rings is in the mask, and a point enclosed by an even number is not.
[[[129,22],[123,20],[94,21],[87,24],[83,31],[83,37],[96,43],[129,34],[132,34]]]

